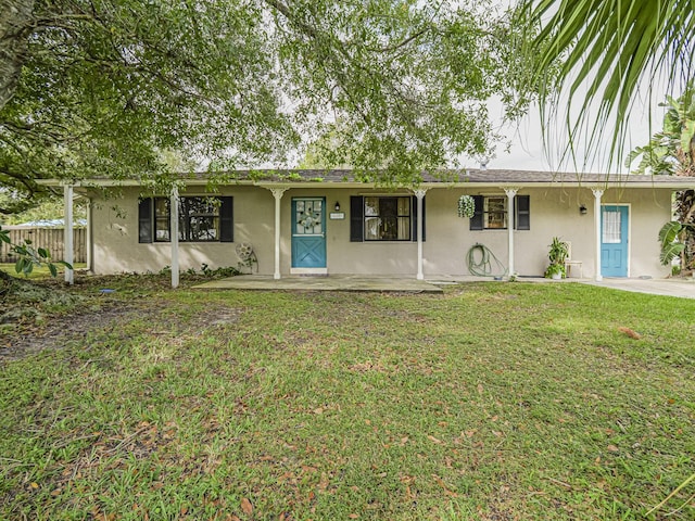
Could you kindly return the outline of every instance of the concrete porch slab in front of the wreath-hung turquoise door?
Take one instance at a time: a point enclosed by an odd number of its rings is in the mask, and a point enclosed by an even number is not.
[[[194,285],[197,290],[376,291],[442,293],[443,290],[415,277],[358,277],[353,275],[271,276],[240,275]]]

